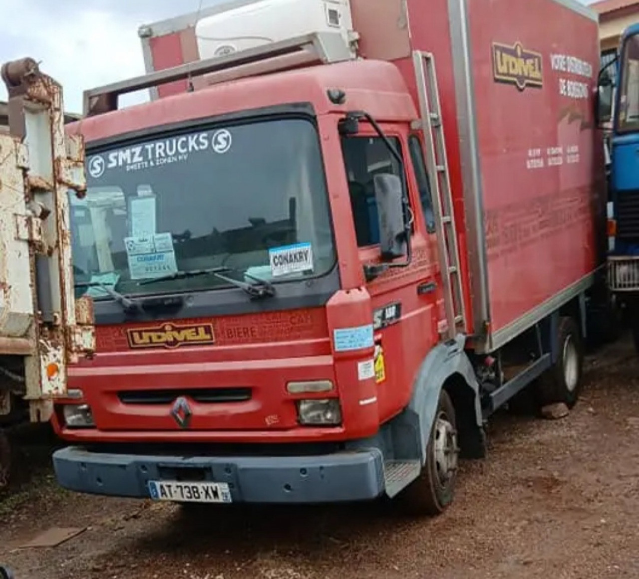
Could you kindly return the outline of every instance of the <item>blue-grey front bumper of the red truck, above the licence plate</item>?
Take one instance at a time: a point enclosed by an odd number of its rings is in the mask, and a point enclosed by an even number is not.
[[[58,483],[69,490],[150,498],[150,480],[228,483],[233,502],[318,503],[369,500],[384,492],[378,449],[316,456],[144,456],[66,447],[53,455]]]

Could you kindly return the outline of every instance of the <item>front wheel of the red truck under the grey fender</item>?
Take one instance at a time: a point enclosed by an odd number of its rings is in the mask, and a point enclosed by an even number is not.
[[[440,515],[450,505],[457,481],[458,457],[455,408],[442,389],[426,447],[426,463],[419,477],[402,493],[412,513]]]

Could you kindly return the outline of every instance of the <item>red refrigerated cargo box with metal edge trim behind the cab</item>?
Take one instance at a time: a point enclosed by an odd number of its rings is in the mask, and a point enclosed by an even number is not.
[[[466,329],[495,350],[588,289],[603,264],[597,15],[576,0],[350,4],[358,56],[395,63],[415,102],[413,51],[435,55]],[[196,20],[143,27],[149,70],[200,57]]]

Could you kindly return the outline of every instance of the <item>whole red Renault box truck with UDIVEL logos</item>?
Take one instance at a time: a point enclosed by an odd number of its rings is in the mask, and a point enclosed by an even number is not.
[[[495,410],[576,403],[604,258],[589,8],[240,0],[141,36],[152,70],[69,129],[97,354],[56,405],[62,486],[436,514]]]

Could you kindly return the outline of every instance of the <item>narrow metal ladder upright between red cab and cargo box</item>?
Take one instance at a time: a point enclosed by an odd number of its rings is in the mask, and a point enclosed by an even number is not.
[[[447,322],[445,335],[453,340],[458,331],[465,329],[466,312],[435,56],[430,52],[415,50],[413,64],[419,94],[419,128],[422,130],[424,144],[426,144],[424,156],[435,212],[435,229],[442,271]]]

